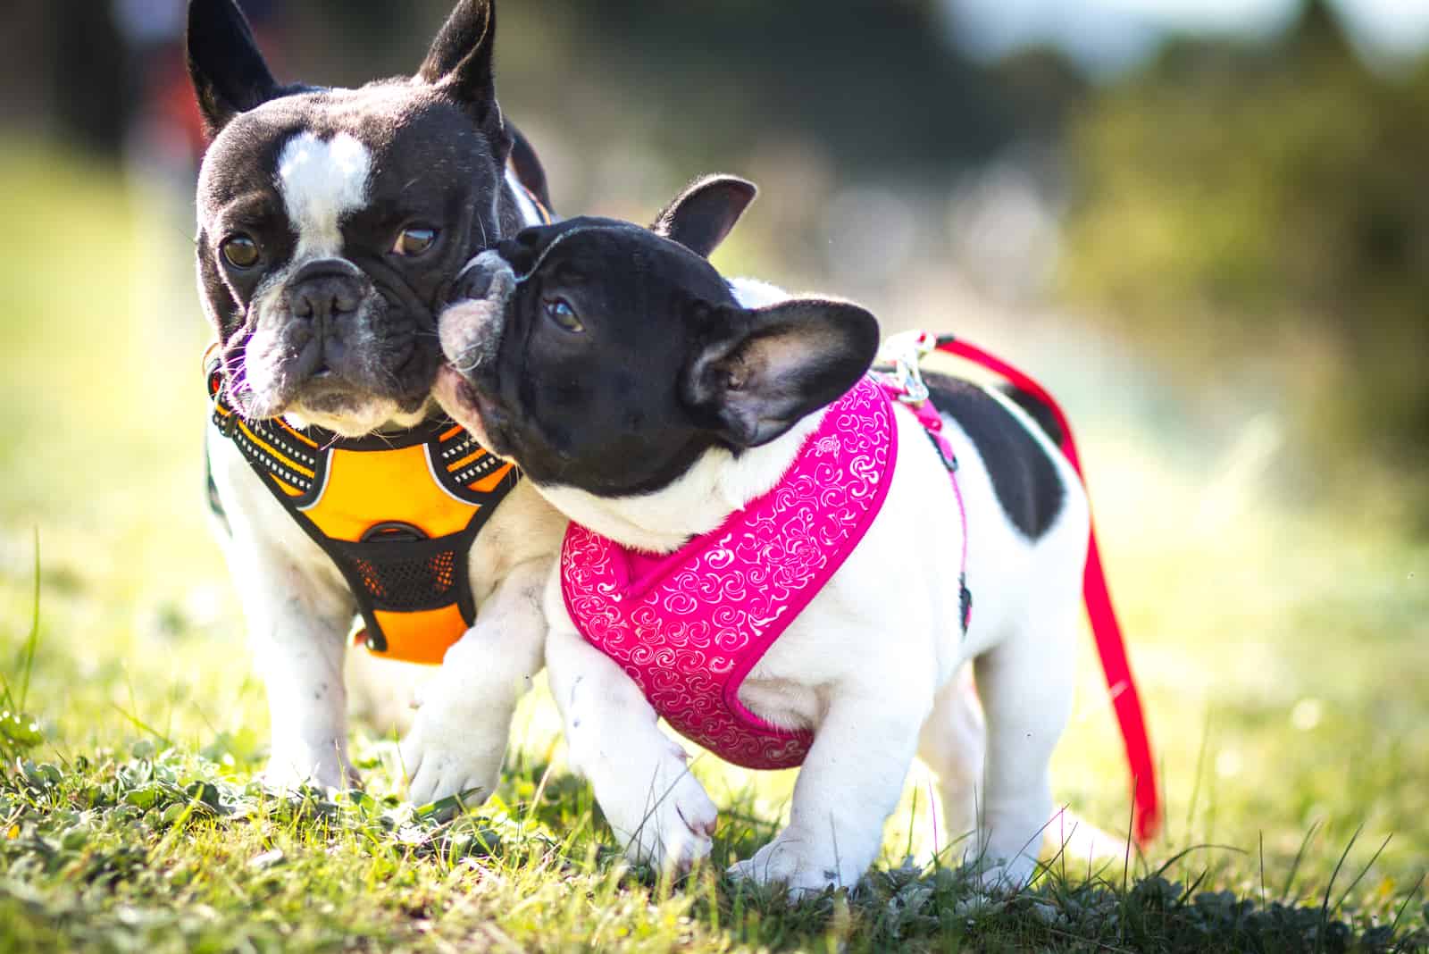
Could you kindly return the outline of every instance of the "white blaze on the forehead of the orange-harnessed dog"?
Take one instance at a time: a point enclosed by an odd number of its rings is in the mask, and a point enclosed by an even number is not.
[[[277,159],[277,187],[297,230],[294,261],[342,256],[342,217],[367,204],[372,153],[347,133],[299,133]]]

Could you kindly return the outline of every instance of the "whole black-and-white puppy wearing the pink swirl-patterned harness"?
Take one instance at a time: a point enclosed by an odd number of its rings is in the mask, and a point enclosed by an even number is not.
[[[1000,393],[890,397],[863,308],[726,283],[704,256],[752,196],[714,177],[653,231],[524,230],[442,317],[437,398],[572,518],[544,598],[570,763],[632,857],[676,867],[716,808],[657,716],[802,764],[789,825],[736,873],[820,890],[872,864],[920,755],[945,847],[1025,883],[1072,701],[1082,484]]]

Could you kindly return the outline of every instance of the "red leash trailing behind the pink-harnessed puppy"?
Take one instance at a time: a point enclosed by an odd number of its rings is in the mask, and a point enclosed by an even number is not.
[[[1017,390],[1026,391],[1042,401],[1052,411],[1057,427],[1062,430],[1062,453],[1066,454],[1082,483],[1086,483],[1086,474],[1082,473],[1082,461],[1076,453],[1076,443],[1072,440],[1072,424],[1046,388],[1002,358],[983,351],[975,344],[960,341],[950,334],[939,336],[935,347],[939,351],[956,354],[995,374],[1000,374]],[[1082,598],[1086,601],[1086,614],[1092,621],[1092,636],[1096,638],[1096,651],[1102,658],[1102,671],[1106,674],[1106,687],[1112,696],[1112,706],[1116,708],[1116,721],[1122,728],[1122,741],[1126,744],[1126,761],[1132,770],[1133,831],[1136,841],[1146,844],[1156,835],[1156,830],[1160,827],[1156,768],[1152,763],[1150,741],[1146,737],[1146,717],[1142,713],[1142,700],[1136,693],[1136,681],[1132,678],[1130,661],[1126,658],[1126,641],[1122,638],[1122,626],[1116,620],[1116,610],[1112,607],[1112,594],[1106,588],[1106,574],[1102,571],[1102,554],[1096,547],[1095,527],[1087,540]]]

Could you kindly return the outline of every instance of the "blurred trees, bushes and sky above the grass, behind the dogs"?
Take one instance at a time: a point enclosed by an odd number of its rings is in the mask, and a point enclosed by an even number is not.
[[[247,9],[280,77],[359,84],[410,71],[447,6]],[[151,224],[191,231],[183,3],[4,17],[7,140],[167,186]],[[1286,490],[1319,493],[1429,464],[1426,44],[1405,0],[513,0],[499,83],[557,209],[640,219],[750,176],[739,264],[942,304],[893,324],[1055,307],[1145,350],[1193,424],[1265,410]]]

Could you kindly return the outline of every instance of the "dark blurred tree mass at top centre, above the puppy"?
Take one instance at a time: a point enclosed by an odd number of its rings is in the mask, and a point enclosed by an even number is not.
[[[946,169],[1022,131],[930,0],[560,6],[582,21],[583,53],[613,60],[602,77],[666,101],[672,133],[706,163],[779,131],[829,143],[843,164]]]

